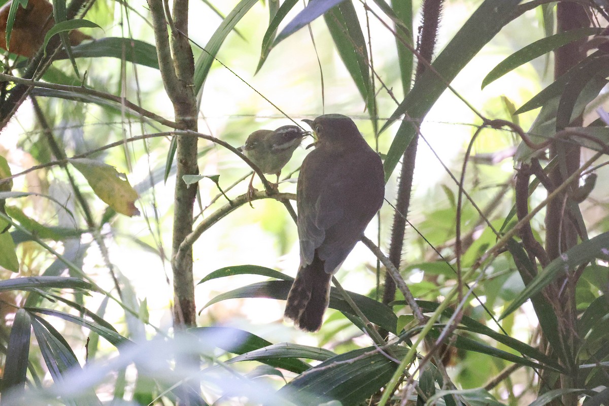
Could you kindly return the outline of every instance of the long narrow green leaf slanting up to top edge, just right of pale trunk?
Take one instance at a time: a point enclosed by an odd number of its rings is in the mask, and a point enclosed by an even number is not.
[[[211,38],[209,38],[208,43],[203,49],[203,53],[200,55],[194,67],[194,94],[199,94],[199,91],[203,88],[203,83],[205,83],[205,79],[207,79],[211,63],[216,58],[216,54],[220,50],[220,46],[222,46],[227,35],[257,2],[258,0],[241,0],[228,14],[227,18],[222,21]]]

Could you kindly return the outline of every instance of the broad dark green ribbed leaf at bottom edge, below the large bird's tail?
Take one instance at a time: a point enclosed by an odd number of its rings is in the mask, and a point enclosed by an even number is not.
[[[407,348],[393,346],[396,357]],[[336,355],[281,388],[278,394],[301,405],[339,401],[343,406],[359,405],[389,382],[397,364],[374,347]]]

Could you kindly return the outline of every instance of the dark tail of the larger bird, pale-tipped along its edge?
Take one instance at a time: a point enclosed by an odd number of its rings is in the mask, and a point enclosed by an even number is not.
[[[319,330],[328,307],[331,278],[317,255],[312,264],[301,266],[287,295],[284,317],[294,320],[294,324],[305,331]]]

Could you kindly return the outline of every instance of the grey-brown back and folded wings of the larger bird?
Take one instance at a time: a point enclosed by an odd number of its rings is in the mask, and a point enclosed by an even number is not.
[[[335,271],[378,211],[383,174],[380,159],[373,154],[317,154],[303,163],[298,179],[298,235],[306,264],[311,264],[317,250],[326,272]]]

